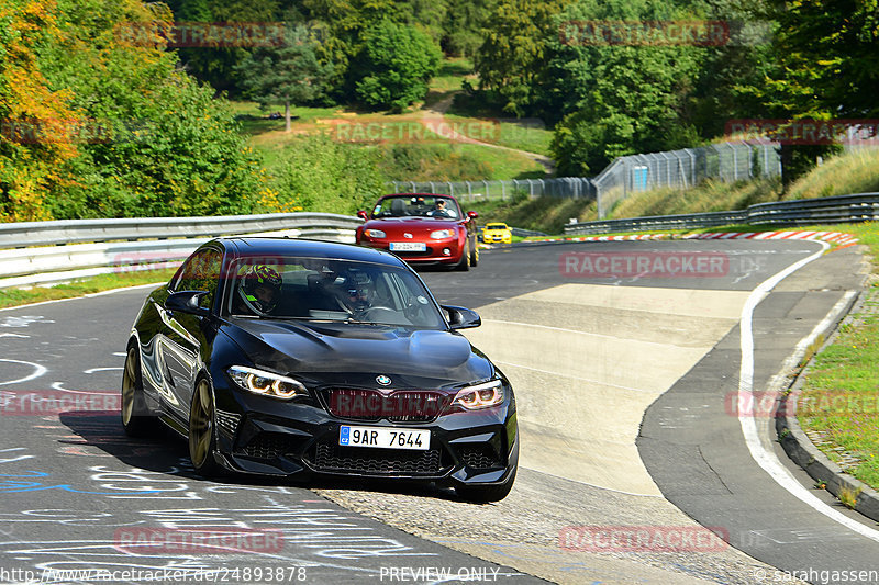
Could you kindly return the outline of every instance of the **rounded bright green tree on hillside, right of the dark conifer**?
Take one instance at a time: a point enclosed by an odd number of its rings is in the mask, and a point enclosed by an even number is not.
[[[401,111],[427,94],[442,54],[431,37],[418,29],[382,20],[364,32],[356,82],[364,103]]]

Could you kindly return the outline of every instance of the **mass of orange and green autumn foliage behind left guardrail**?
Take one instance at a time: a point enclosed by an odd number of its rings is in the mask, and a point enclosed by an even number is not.
[[[3,4],[3,220],[211,215],[271,200],[225,102],[177,70],[157,34],[125,34],[157,22],[170,13],[137,0]]]

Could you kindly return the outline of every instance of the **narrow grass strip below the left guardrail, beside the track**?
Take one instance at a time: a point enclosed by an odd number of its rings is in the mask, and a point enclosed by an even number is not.
[[[33,289],[0,289],[0,308],[27,305],[58,299],[74,299],[86,294],[111,291],[125,286],[138,286],[152,282],[170,280],[176,268],[144,270],[141,272],[113,272],[89,279],[77,280],[55,286],[34,286]]]

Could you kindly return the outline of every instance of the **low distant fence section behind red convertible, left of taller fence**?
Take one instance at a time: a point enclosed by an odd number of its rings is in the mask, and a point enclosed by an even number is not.
[[[390,193],[444,193],[468,202],[508,200],[518,194],[532,198],[596,199],[592,180],[586,177],[512,181],[391,181],[388,190]]]

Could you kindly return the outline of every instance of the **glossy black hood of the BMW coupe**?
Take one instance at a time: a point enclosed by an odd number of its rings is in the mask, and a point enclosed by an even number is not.
[[[307,384],[372,387],[382,374],[391,387],[442,387],[494,374],[491,362],[454,331],[244,318],[221,330],[255,365]]]

